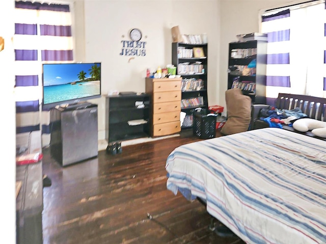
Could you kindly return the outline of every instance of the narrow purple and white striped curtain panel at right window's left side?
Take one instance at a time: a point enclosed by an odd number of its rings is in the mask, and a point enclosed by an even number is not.
[[[279,93],[288,93],[290,82],[290,10],[262,16],[267,34],[266,103],[274,105]]]

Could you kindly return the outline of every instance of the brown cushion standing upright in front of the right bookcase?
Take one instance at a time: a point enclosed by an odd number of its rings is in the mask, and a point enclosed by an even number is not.
[[[251,114],[251,98],[243,95],[241,89],[228,89],[225,92],[228,119],[221,129],[224,135],[248,131]]]

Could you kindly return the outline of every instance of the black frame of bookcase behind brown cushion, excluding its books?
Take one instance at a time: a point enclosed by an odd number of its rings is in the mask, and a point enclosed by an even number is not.
[[[256,49],[256,53],[244,57],[232,57],[232,50],[237,49]],[[250,52],[249,52],[250,53]],[[230,73],[234,66],[248,66],[252,60],[256,59],[255,75],[238,75]],[[233,81],[239,77],[239,81],[253,82],[256,85],[255,93],[242,90],[244,95],[252,99],[253,104],[266,104],[266,64],[267,64],[267,41],[247,41],[229,43],[229,70],[228,70],[228,89],[231,89]]]

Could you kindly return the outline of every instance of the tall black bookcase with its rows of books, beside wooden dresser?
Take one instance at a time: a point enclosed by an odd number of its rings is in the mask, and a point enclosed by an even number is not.
[[[193,109],[208,108],[207,47],[207,43],[172,43],[172,64],[182,77],[181,111],[186,113],[181,129],[193,126]]]

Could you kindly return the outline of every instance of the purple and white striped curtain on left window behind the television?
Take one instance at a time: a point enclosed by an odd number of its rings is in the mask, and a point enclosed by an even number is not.
[[[14,19],[16,133],[42,130],[46,146],[50,116],[41,108],[42,64],[73,61],[70,8],[20,1]]]

